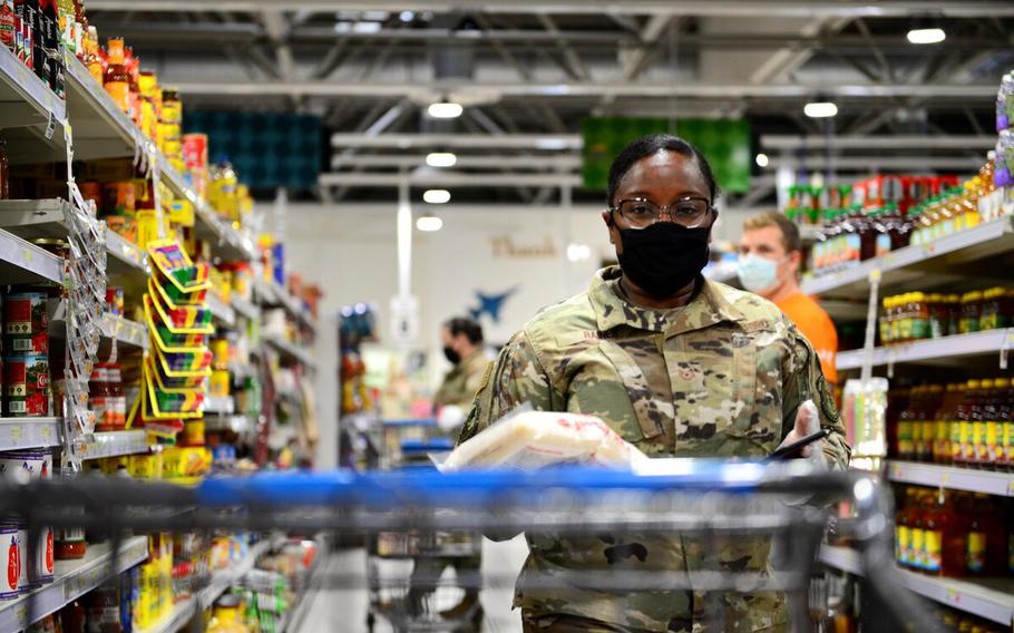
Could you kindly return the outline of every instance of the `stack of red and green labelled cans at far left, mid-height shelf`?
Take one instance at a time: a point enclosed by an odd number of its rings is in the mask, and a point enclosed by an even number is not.
[[[3,298],[3,415],[49,415],[49,311],[46,292]]]

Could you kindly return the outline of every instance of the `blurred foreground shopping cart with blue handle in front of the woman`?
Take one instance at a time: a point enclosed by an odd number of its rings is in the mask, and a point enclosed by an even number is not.
[[[611,571],[529,575],[526,586],[610,592],[693,591],[706,596],[703,626],[725,629],[722,595],[784,592],[793,631],[812,630],[808,586],[828,512],[811,499],[847,500],[856,518],[839,525],[859,551],[869,587],[893,617],[915,631],[939,626],[904,588],[893,565],[891,499],[859,474],[812,471],[806,464],[761,465],[701,460],[650,460],[643,473],[560,467],[537,473],[436,471],[263,474],[208,479],[194,488],[120,479],[33,481],[0,488],[0,515],[18,515],[38,533],[42,525],[120,530],[226,528],[247,530],[335,530],[510,534],[694,534],[705,543],[758,534],[780,539],[773,573],[730,568],[688,572]],[[179,514],[181,508],[189,508]],[[30,543],[35,543],[30,538]],[[114,552],[116,543],[114,543]],[[116,568],[116,561],[113,567]],[[430,578],[439,585],[439,578]],[[478,582],[478,578],[459,578]],[[332,586],[367,586],[349,569],[326,578]],[[503,586],[513,578],[486,578]],[[404,578],[380,580],[383,588]],[[33,606],[28,605],[31,610]],[[899,624],[897,630],[904,630]]]

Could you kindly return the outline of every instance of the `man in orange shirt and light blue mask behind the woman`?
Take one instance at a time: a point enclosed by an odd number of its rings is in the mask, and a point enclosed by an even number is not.
[[[837,383],[838,332],[828,313],[799,290],[801,260],[799,228],[784,214],[762,213],[743,223],[737,266],[740,282],[778,305],[796,323],[817,350],[825,378]]]

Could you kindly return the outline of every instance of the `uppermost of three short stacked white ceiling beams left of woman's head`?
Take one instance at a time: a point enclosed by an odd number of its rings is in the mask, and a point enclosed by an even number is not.
[[[581,136],[576,134],[380,134],[372,137],[362,134],[331,135],[331,146],[335,148],[383,147],[388,149],[410,149],[413,147],[447,147],[460,149],[478,147],[563,150],[581,149],[583,145]]]

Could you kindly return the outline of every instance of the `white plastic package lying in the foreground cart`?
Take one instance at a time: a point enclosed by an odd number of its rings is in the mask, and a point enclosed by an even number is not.
[[[594,416],[524,411],[504,418],[456,448],[442,470],[510,467],[535,470],[556,464],[631,468],[647,459]]]

